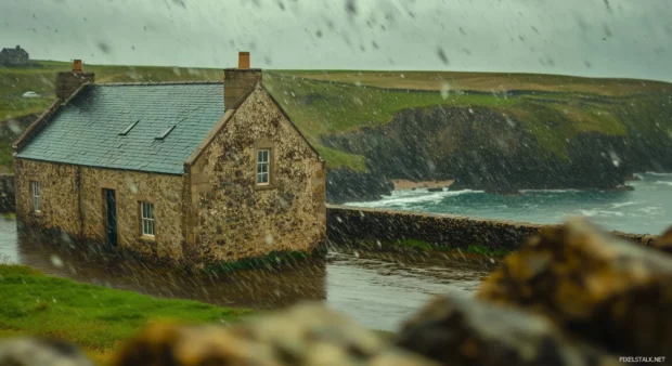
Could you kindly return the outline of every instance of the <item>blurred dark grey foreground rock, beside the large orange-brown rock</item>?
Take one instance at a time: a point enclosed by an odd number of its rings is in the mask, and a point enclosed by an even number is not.
[[[442,365],[616,365],[546,318],[473,299],[438,298],[406,321],[397,345]]]

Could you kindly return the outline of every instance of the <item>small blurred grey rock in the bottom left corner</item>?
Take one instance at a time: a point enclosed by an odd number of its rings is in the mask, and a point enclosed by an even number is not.
[[[93,366],[93,363],[65,341],[15,338],[0,341],[0,365]]]

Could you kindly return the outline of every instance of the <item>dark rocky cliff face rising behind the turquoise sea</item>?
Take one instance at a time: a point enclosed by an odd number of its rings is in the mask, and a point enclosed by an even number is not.
[[[621,119],[628,117],[633,116]],[[672,169],[672,140],[664,134],[644,135],[630,127],[626,135],[582,132],[557,154],[520,120],[487,107],[406,109],[388,125],[325,135],[322,143],[365,156],[369,173],[350,172],[349,184],[329,186],[328,197],[351,200],[378,198],[385,192],[366,187],[389,188],[385,182],[392,178],[455,179],[454,188],[513,193],[611,188],[635,171]],[[358,185],[359,197],[341,193]]]

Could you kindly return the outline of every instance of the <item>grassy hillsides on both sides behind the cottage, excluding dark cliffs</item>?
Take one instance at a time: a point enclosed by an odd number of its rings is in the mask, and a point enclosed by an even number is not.
[[[0,68],[0,119],[38,113],[53,99],[54,74],[69,65],[41,63],[43,68]],[[216,80],[222,76],[220,69],[204,68],[85,68],[96,73],[98,82]],[[331,143],[332,138],[379,130],[413,109],[428,114],[437,107],[455,108],[473,115],[475,130],[506,128],[486,123],[482,110],[494,113],[504,125],[531,134],[543,154],[559,159],[568,159],[570,142],[586,132],[623,138],[635,132],[644,138],[672,135],[672,84],[658,81],[493,73],[269,70],[264,84],[329,168],[356,172],[370,170],[371,153]],[[21,97],[26,91],[43,96]],[[441,133],[450,134],[445,129]],[[0,155],[10,152],[9,140],[0,141]],[[8,161],[0,158],[0,164]]]

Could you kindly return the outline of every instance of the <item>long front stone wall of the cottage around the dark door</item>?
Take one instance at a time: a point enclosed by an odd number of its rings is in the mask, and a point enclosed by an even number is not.
[[[14,159],[16,217],[29,228],[65,232],[73,239],[104,243],[103,188],[115,189],[119,248],[147,259],[182,259],[182,175],[78,167]],[[29,182],[39,183],[35,212]],[[140,201],[154,204],[155,237],[143,238]]]

